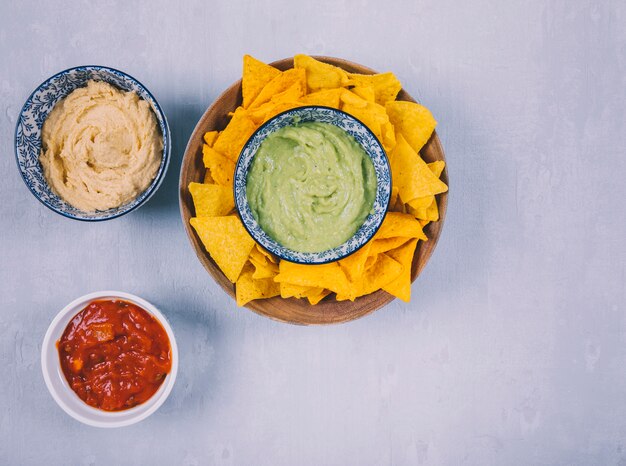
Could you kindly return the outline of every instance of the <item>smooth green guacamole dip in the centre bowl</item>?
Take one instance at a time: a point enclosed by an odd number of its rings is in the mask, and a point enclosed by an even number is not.
[[[246,193],[254,218],[281,245],[299,252],[350,239],[372,210],[376,172],[356,140],[328,123],[286,126],[259,147]]]

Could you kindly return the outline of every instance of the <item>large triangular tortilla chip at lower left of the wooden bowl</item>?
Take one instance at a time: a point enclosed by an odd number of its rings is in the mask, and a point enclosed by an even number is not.
[[[239,217],[193,217],[189,223],[226,278],[235,283],[254,247]]]

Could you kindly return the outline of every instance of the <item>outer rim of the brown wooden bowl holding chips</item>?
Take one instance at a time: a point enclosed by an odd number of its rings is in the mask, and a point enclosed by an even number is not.
[[[342,58],[336,58],[336,57],[328,57],[328,56],[313,56],[313,58],[320,60],[322,62],[325,63],[330,63],[333,64],[335,66],[340,66],[343,69],[347,69],[347,71],[349,70],[355,70],[352,72],[358,72],[361,74],[375,74],[377,73],[377,71],[360,65],[358,63],[355,62],[351,62],[349,60],[345,60]],[[293,67],[293,58],[283,58],[281,60],[276,60],[272,63],[270,63],[271,66],[277,67],[281,70],[284,69],[289,69]],[[188,193],[188,188],[187,188],[187,179],[184,177],[184,175],[186,174],[186,168],[187,166],[194,160],[194,157],[197,157],[197,151],[194,154],[191,154],[191,144],[194,140],[199,139],[202,140],[202,136],[204,135],[204,133],[206,131],[211,131],[212,129],[207,129],[206,126],[206,122],[205,120],[208,119],[209,116],[212,115],[214,108],[216,107],[216,105],[218,103],[220,103],[223,99],[227,98],[229,95],[231,95],[233,92],[235,93],[239,93],[240,94],[240,90],[241,90],[241,79],[237,80],[236,82],[234,82],[232,85],[230,85],[229,87],[227,87],[212,103],[211,105],[205,110],[205,112],[202,114],[202,116],[200,117],[200,119],[198,120],[198,123],[196,124],[196,126],[194,127],[193,132],[191,133],[191,135],[189,136],[189,140],[187,141],[187,145],[185,147],[185,152],[183,154],[183,159],[181,161],[181,168],[180,168],[180,175],[179,175],[179,208],[180,208],[180,214],[181,214],[181,220],[183,222],[183,226],[185,228],[185,232],[187,234],[187,238],[189,239],[189,242],[191,243],[191,246],[196,254],[196,257],[198,258],[198,260],[200,261],[200,263],[202,264],[202,266],[205,268],[205,270],[209,273],[209,275],[211,276],[211,278],[213,278],[213,280],[226,292],[226,294],[228,294],[231,298],[235,299],[235,291],[234,291],[234,284],[227,282],[228,280],[226,279],[226,277],[224,276],[224,274],[222,273],[222,271],[219,269],[219,267],[215,264],[215,262],[213,261],[213,259],[210,257],[209,253],[205,250],[204,246],[202,245],[202,242],[199,240],[199,238],[197,237],[195,231],[193,231],[193,228],[191,227],[191,225],[189,224],[189,219],[191,218],[191,215],[188,216],[188,218],[186,218],[186,209],[185,209],[185,199],[184,196],[187,195],[189,196]],[[238,102],[239,104],[241,104],[241,95],[238,96]],[[400,93],[398,94],[397,100],[406,100],[406,101],[410,101],[410,102],[416,102],[415,99],[413,99],[405,90],[404,88],[400,91]],[[430,139],[428,140],[428,142],[426,143],[427,146],[429,145],[433,145],[434,146],[434,151],[436,153],[438,153],[438,155],[441,156],[440,159],[438,160],[443,160],[446,162],[446,166],[444,167],[444,171],[441,175],[441,179],[446,183],[446,185],[449,185],[449,179],[448,179],[448,164],[445,158],[445,153],[443,151],[443,146],[441,144],[441,141],[439,140],[439,137],[437,135],[436,131],[433,131],[432,136],[430,137]],[[448,191],[449,192],[449,191]],[[443,230],[443,224],[444,224],[444,220],[445,220],[445,215],[446,215],[446,210],[447,210],[447,201],[448,201],[448,192],[442,193],[440,195],[436,196],[436,201],[437,201],[437,206],[439,209],[439,220],[437,222],[431,222],[427,225],[426,228],[428,228],[430,225],[437,225],[437,229],[436,229],[436,234],[433,234],[432,236],[429,236],[428,238],[428,243],[430,243],[430,247],[428,248],[428,250],[426,251],[424,257],[422,258],[422,260],[420,262],[417,261],[417,257],[419,256],[419,252],[420,252],[420,248],[421,246],[424,245],[425,242],[421,241],[418,242],[418,248],[416,249],[414,258],[413,258],[413,263],[411,266],[411,283],[415,282],[415,280],[417,279],[417,277],[420,275],[420,273],[422,272],[422,270],[424,269],[424,267],[426,266],[426,264],[428,263],[430,257],[432,256],[434,250],[436,249],[437,243],[439,241],[439,237],[441,236],[441,231]],[[332,294],[331,294],[331,298],[332,299]],[[328,298],[325,298],[325,300]],[[320,312],[319,315],[317,315],[318,319],[290,319],[287,317],[283,317],[283,316],[277,316],[272,314],[271,312],[269,312],[266,308],[268,307],[268,302],[274,301],[274,300],[279,300],[279,302],[281,302],[282,304],[287,305],[288,307],[292,307],[293,305],[298,306],[297,302],[302,302],[303,300],[301,299],[296,299],[296,298],[288,298],[288,299],[284,299],[281,298],[280,296],[274,297],[274,298],[270,298],[270,299],[264,299],[264,300],[254,300],[249,302],[248,304],[246,304],[244,307],[246,307],[247,309],[262,315],[264,317],[268,317],[272,320],[278,321],[278,322],[284,322],[284,323],[290,323],[290,324],[296,324],[296,325],[331,325],[331,324],[337,324],[337,323],[345,323],[345,322],[349,322],[352,320],[356,320],[359,319],[361,317],[364,317],[366,315],[371,314],[374,311],[377,311],[379,309],[381,309],[382,307],[386,306],[387,304],[389,304],[391,301],[393,301],[395,299],[395,297],[393,295],[390,295],[389,293],[383,291],[383,290],[378,290],[375,291],[374,293],[370,293],[369,295],[365,295],[362,297],[357,298],[354,302],[351,301],[328,301],[327,304],[332,304],[334,307],[344,307],[344,306],[353,306],[355,303],[358,303],[359,301],[367,301],[367,302],[374,302],[375,305],[367,308],[366,306],[363,306],[363,309],[358,309],[357,312],[355,313],[346,313],[345,316],[343,314],[340,314],[338,317],[332,317],[332,316],[327,316],[326,313],[324,312]],[[316,306],[312,306],[310,305],[308,302],[306,303],[306,306],[308,306],[309,308],[315,309],[315,310],[321,310],[322,306],[321,304],[324,303],[323,300],[320,304],[316,305]],[[301,304],[301,303],[300,303]],[[271,309],[271,306],[269,306]]]

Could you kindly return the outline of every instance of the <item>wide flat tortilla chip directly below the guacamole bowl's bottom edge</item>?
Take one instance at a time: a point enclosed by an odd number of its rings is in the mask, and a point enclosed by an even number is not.
[[[303,265],[283,260],[279,266],[280,272],[274,277],[279,283],[326,288],[335,293],[350,294],[348,278],[337,262]]]

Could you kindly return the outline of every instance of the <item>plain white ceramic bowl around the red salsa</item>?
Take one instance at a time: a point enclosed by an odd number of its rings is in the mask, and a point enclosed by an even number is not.
[[[123,299],[145,309],[159,321],[165,329],[170,340],[172,369],[165,380],[152,397],[145,403],[124,411],[104,411],[89,406],[72,390],[68,384],[59,360],[59,352],[56,346],[61,339],[63,331],[72,318],[83,310],[87,304],[96,299]],[[74,419],[94,427],[123,427],[135,424],[154,413],[167,399],[172,391],[176,373],[178,372],[178,347],[174,332],[167,320],[159,310],[148,301],[121,291],[97,291],[75,299],[63,308],[54,318],[41,347],[41,369],[46,386],[54,398],[54,401]]]

